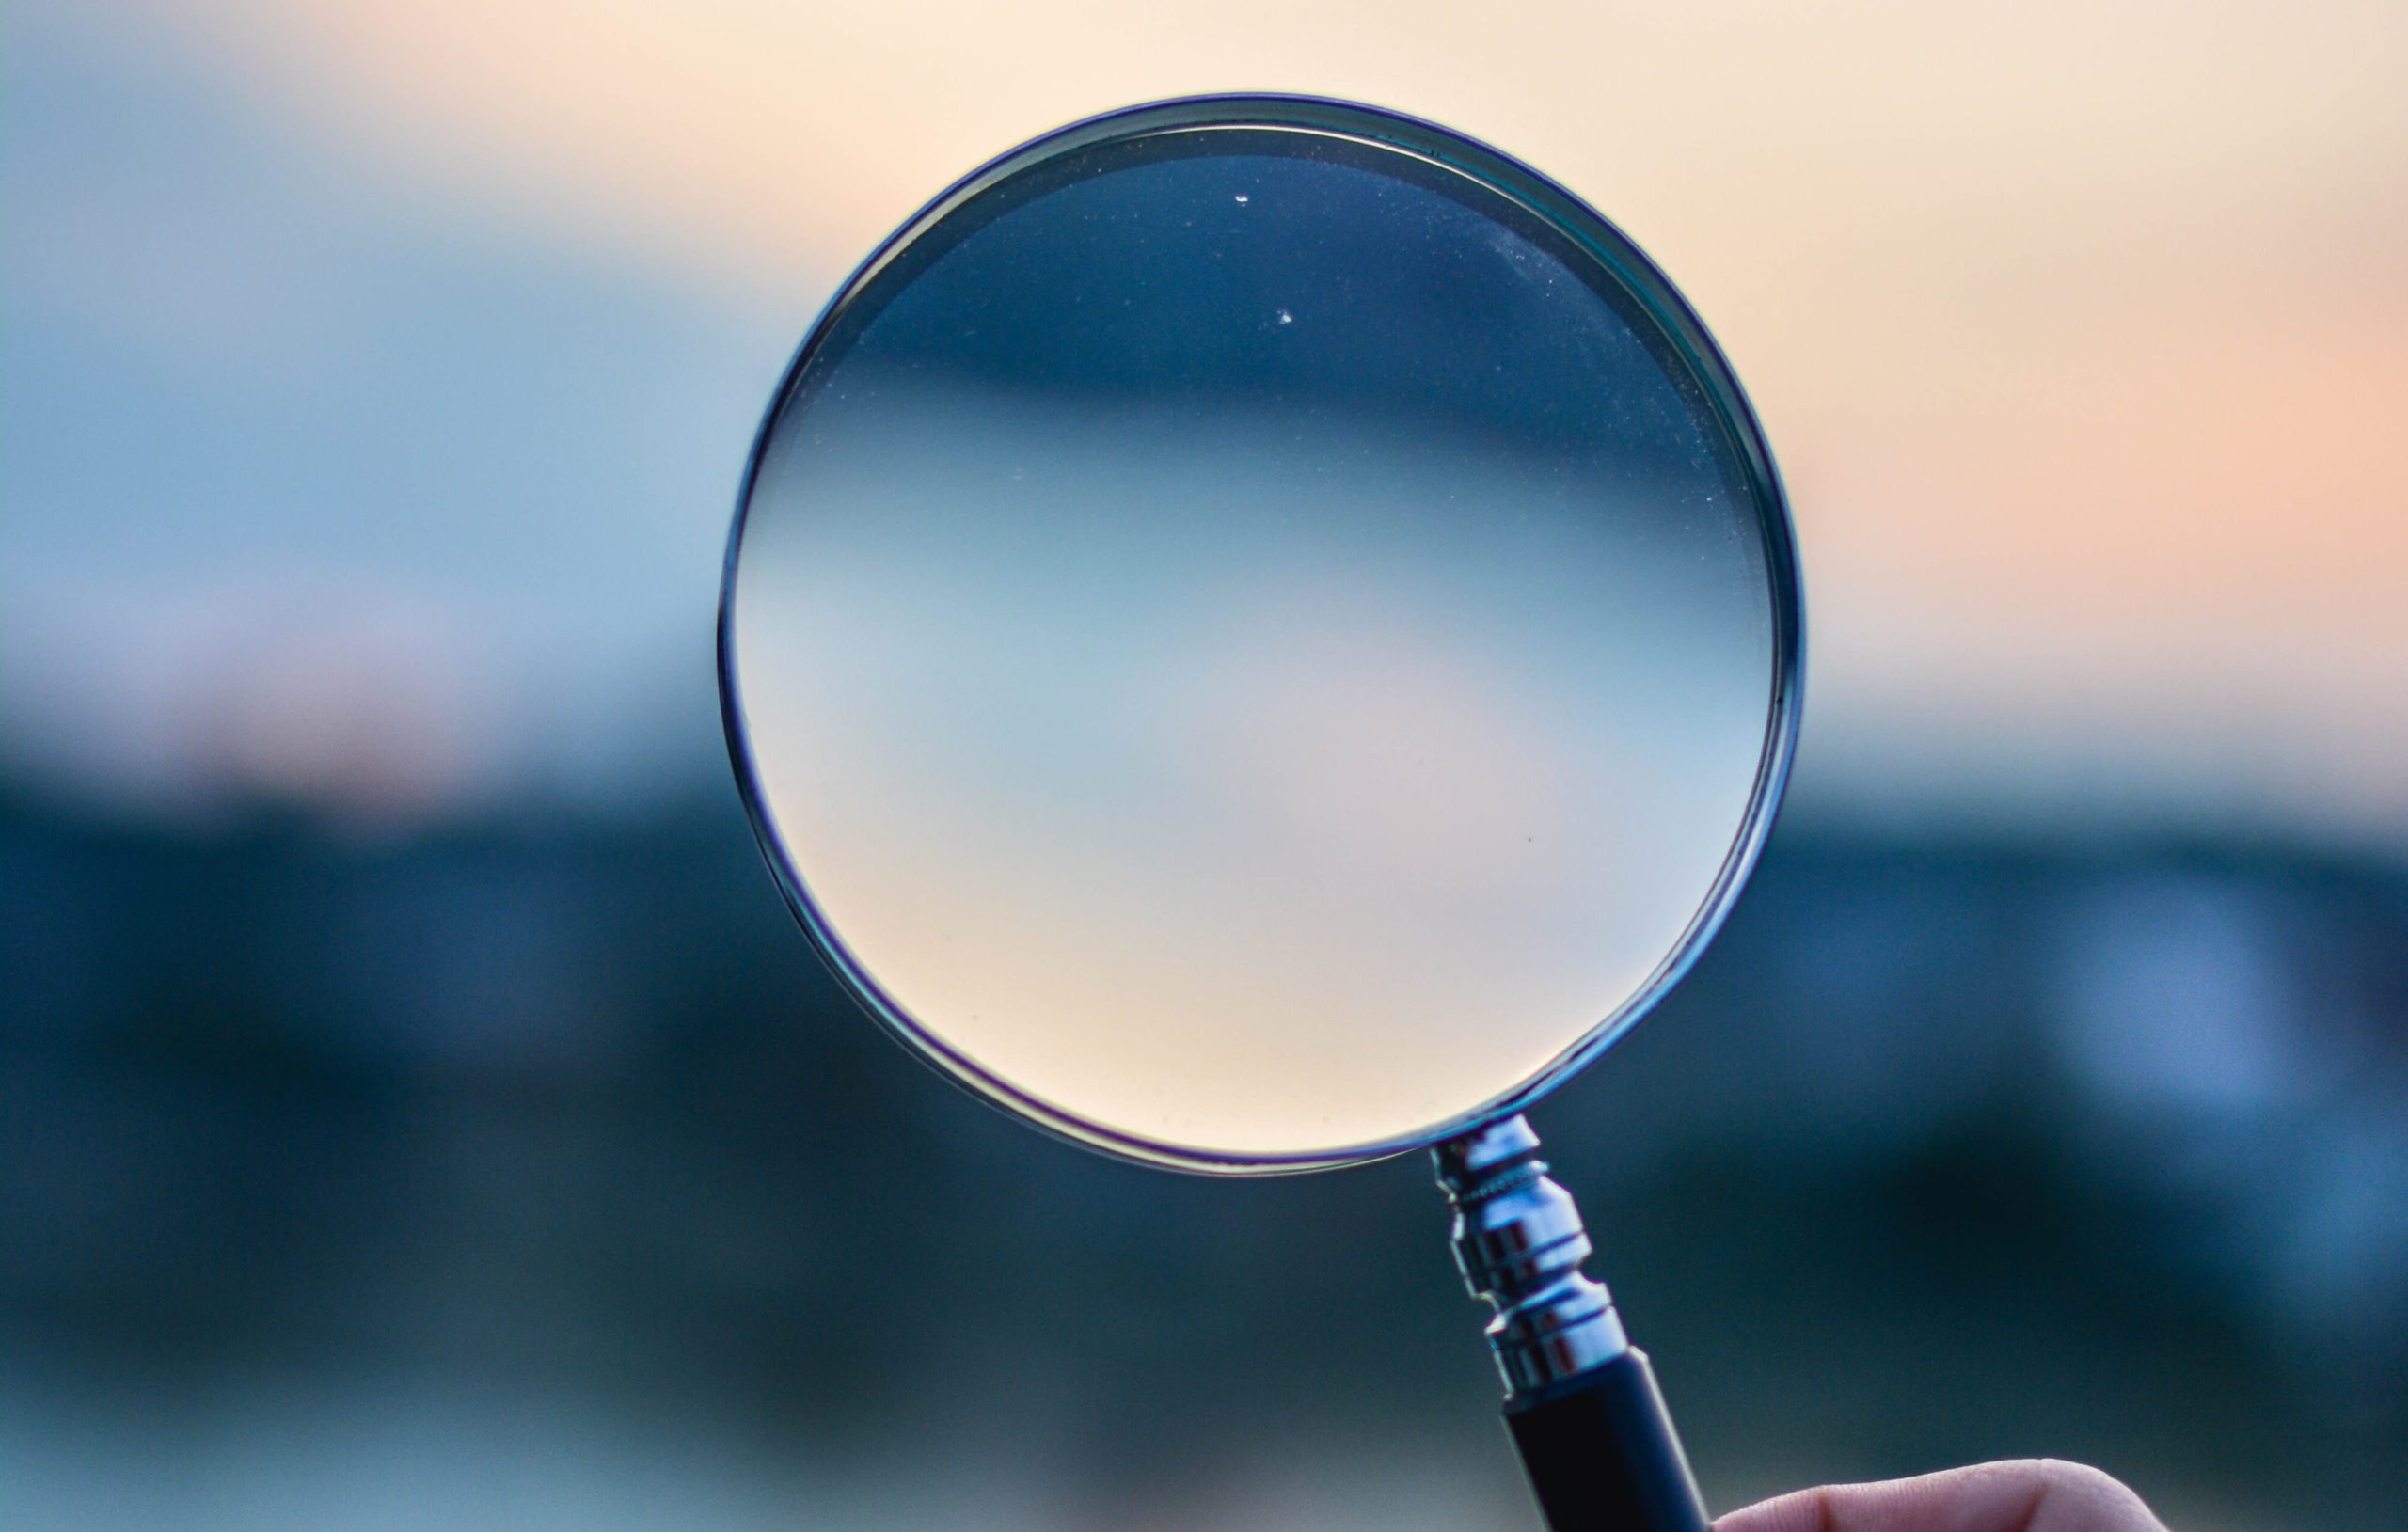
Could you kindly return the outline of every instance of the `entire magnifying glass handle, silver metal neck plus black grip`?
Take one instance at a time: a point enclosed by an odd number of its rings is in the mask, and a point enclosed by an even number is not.
[[[1707,1532],[1647,1354],[1589,1279],[1589,1233],[1522,1118],[1438,1144],[1454,1265],[1495,1306],[1505,1426],[1548,1532]]]

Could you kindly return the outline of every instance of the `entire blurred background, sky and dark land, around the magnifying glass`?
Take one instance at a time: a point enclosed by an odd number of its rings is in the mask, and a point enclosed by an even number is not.
[[[1007,1123],[836,995],[727,778],[816,306],[1194,89],[1553,171],[1782,450],[1792,807],[1536,1115],[1710,1503],[2068,1455],[2398,1525],[2398,5],[0,31],[0,1525],[1534,1525],[1418,1159]]]

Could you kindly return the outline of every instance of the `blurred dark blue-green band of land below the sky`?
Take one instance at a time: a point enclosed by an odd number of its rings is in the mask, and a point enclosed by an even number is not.
[[[2049,1453],[2396,1525],[2398,862],[1792,817],[1534,1120],[1717,1508]],[[1421,1156],[1197,1180],[939,1084],[720,800],[412,838],[0,802],[22,1400],[496,1387],[1105,1508],[1428,1445],[1519,1525],[1442,1231]]]

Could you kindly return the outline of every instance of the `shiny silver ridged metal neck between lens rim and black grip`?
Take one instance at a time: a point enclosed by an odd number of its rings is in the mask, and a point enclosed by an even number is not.
[[[1471,1296],[1495,1306],[1488,1347],[1507,1400],[1630,1349],[1613,1296],[1580,1269],[1589,1257],[1580,1204],[1548,1180],[1529,1123],[1505,1118],[1430,1154],[1454,1204],[1454,1265]]]

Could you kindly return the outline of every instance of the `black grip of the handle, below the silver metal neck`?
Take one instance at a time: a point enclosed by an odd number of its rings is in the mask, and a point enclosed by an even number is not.
[[[1707,1532],[1645,1351],[1507,1404],[1505,1428],[1548,1532]]]

